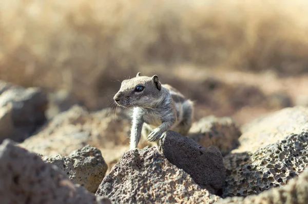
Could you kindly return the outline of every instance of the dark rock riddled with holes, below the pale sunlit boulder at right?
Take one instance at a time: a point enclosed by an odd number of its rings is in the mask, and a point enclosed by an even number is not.
[[[308,164],[308,133],[292,134],[255,152],[224,157],[227,169],[225,196],[258,194],[285,185]]]

